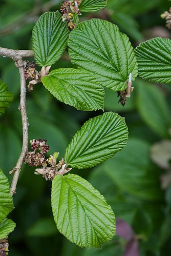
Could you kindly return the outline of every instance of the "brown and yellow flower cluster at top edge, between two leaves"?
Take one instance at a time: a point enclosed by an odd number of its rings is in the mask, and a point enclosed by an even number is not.
[[[67,21],[67,26],[73,30],[76,26],[74,23],[74,15],[73,13],[76,13],[78,15],[81,15],[81,12],[79,10],[79,5],[81,3],[81,0],[71,0],[71,1],[65,1],[60,10],[62,13],[62,21]]]

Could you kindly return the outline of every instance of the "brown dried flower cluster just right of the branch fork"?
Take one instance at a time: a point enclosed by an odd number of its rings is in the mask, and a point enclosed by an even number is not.
[[[42,67],[40,71],[36,70],[35,62],[24,61],[25,78],[29,81],[28,90],[32,91],[33,86],[41,82],[41,78],[49,74],[51,66]]]

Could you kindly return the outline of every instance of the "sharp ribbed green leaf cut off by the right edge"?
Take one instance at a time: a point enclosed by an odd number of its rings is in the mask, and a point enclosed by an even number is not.
[[[171,40],[156,37],[140,44],[135,53],[138,72],[144,79],[163,84],[171,83]]]

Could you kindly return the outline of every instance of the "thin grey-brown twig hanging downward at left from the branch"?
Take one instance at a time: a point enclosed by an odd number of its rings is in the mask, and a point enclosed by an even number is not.
[[[20,104],[18,109],[20,110],[22,115],[23,147],[22,147],[22,152],[20,153],[19,159],[16,163],[16,166],[10,172],[10,174],[14,172],[13,180],[10,188],[11,195],[15,193],[20,169],[22,168],[24,157],[26,155],[26,152],[28,151],[28,117],[27,117],[27,110],[26,110],[26,80],[25,80],[25,70],[24,70],[23,59],[18,58],[18,60],[15,61],[15,65],[19,69],[19,74],[20,74]]]

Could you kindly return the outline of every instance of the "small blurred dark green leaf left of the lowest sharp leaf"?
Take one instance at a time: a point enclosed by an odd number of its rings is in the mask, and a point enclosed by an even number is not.
[[[27,230],[29,237],[49,237],[56,233],[56,226],[52,218],[41,218]]]

